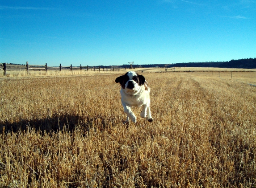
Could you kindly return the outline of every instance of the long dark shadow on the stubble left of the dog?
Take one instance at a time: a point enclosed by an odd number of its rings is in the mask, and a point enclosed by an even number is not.
[[[0,121],[0,133],[27,131],[34,129],[35,131],[42,131],[42,134],[67,130],[73,132],[76,127],[79,127],[84,132],[89,132],[91,129],[98,129],[103,131],[107,127],[111,127],[113,123],[119,123],[117,119],[97,116],[74,116],[63,114],[60,116],[45,119],[20,120],[11,122],[8,120]]]

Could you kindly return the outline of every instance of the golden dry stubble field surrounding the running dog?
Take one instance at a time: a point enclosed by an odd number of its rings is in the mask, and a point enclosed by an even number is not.
[[[256,73],[142,71],[129,126],[121,72],[0,78],[0,187],[255,188]]]

